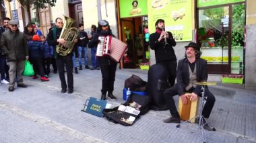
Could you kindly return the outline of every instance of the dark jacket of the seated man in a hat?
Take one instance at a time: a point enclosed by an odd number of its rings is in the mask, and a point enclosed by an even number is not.
[[[207,81],[208,71],[207,62],[201,58],[195,60],[196,70],[197,70],[197,82]],[[185,94],[185,88],[189,85],[189,60],[183,58],[179,60],[177,69],[177,87],[179,95]],[[201,91],[201,86],[195,87],[193,93],[199,95]]]

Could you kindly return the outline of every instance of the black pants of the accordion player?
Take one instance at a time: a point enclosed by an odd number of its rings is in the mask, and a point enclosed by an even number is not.
[[[113,93],[117,64],[100,66],[100,70],[102,75],[101,93],[104,95],[106,95],[106,91],[108,91],[108,94]]]

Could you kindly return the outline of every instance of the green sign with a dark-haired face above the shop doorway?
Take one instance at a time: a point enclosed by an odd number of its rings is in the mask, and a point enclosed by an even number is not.
[[[147,15],[147,0],[119,0],[120,17],[135,17]]]

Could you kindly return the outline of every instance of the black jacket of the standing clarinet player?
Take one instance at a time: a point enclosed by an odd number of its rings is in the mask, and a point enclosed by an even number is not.
[[[174,49],[172,46],[176,46],[176,42],[172,37],[172,33],[168,32],[169,38],[166,39],[168,45],[165,46],[164,38],[158,42],[160,34],[155,32],[150,34],[150,48],[155,50],[156,64],[165,61],[177,60]]]

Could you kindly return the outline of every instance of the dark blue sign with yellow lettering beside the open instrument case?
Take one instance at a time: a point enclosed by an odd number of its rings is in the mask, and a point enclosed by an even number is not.
[[[86,103],[88,103],[88,105],[86,107],[87,113],[96,115],[98,117],[103,117],[102,111],[106,107],[105,100],[100,100],[100,99],[96,99],[94,97],[90,97],[90,99]]]

